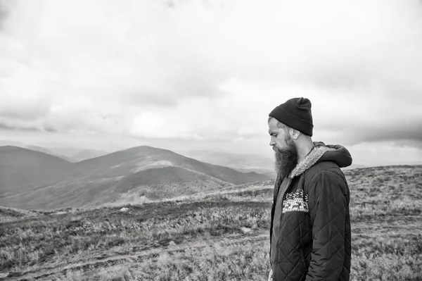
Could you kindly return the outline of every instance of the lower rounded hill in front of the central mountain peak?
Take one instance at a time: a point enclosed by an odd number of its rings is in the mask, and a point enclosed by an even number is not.
[[[60,182],[25,194],[9,196],[7,206],[23,209],[55,209],[101,206],[170,199],[206,190],[217,190],[230,184],[181,167],[142,170],[117,179],[84,179]]]

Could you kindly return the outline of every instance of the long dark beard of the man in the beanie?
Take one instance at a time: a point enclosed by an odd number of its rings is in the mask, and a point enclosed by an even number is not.
[[[275,149],[275,168],[277,176],[283,180],[284,177],[290,175],[292,170],[298,165],[298,150],[293,142],[287,142],[288,148]]]

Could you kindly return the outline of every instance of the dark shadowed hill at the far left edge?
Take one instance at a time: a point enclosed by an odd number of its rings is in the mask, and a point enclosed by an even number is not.
[[[0,198],[51,184],[71,167],[72,163],[58,156],[18,146],[0,146]]]

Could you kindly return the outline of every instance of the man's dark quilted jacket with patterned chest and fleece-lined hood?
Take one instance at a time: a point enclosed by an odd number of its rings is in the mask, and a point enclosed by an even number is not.
[[[284,179],[271,209],[270,263],[274,281],[349,280],[350,193],[340,167],[352,164],[345,147],[315,146]]]

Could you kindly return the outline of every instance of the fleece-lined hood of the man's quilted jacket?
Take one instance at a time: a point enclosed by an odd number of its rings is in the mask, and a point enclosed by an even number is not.
[[[293,169],[288,177],[293,178],[301,175],[305,170],[321,161],[333,161],[340,168],[352,165],[350,152],[340,144],[324,144],[324,142],[314,142],[314,148],[303,158]]]

